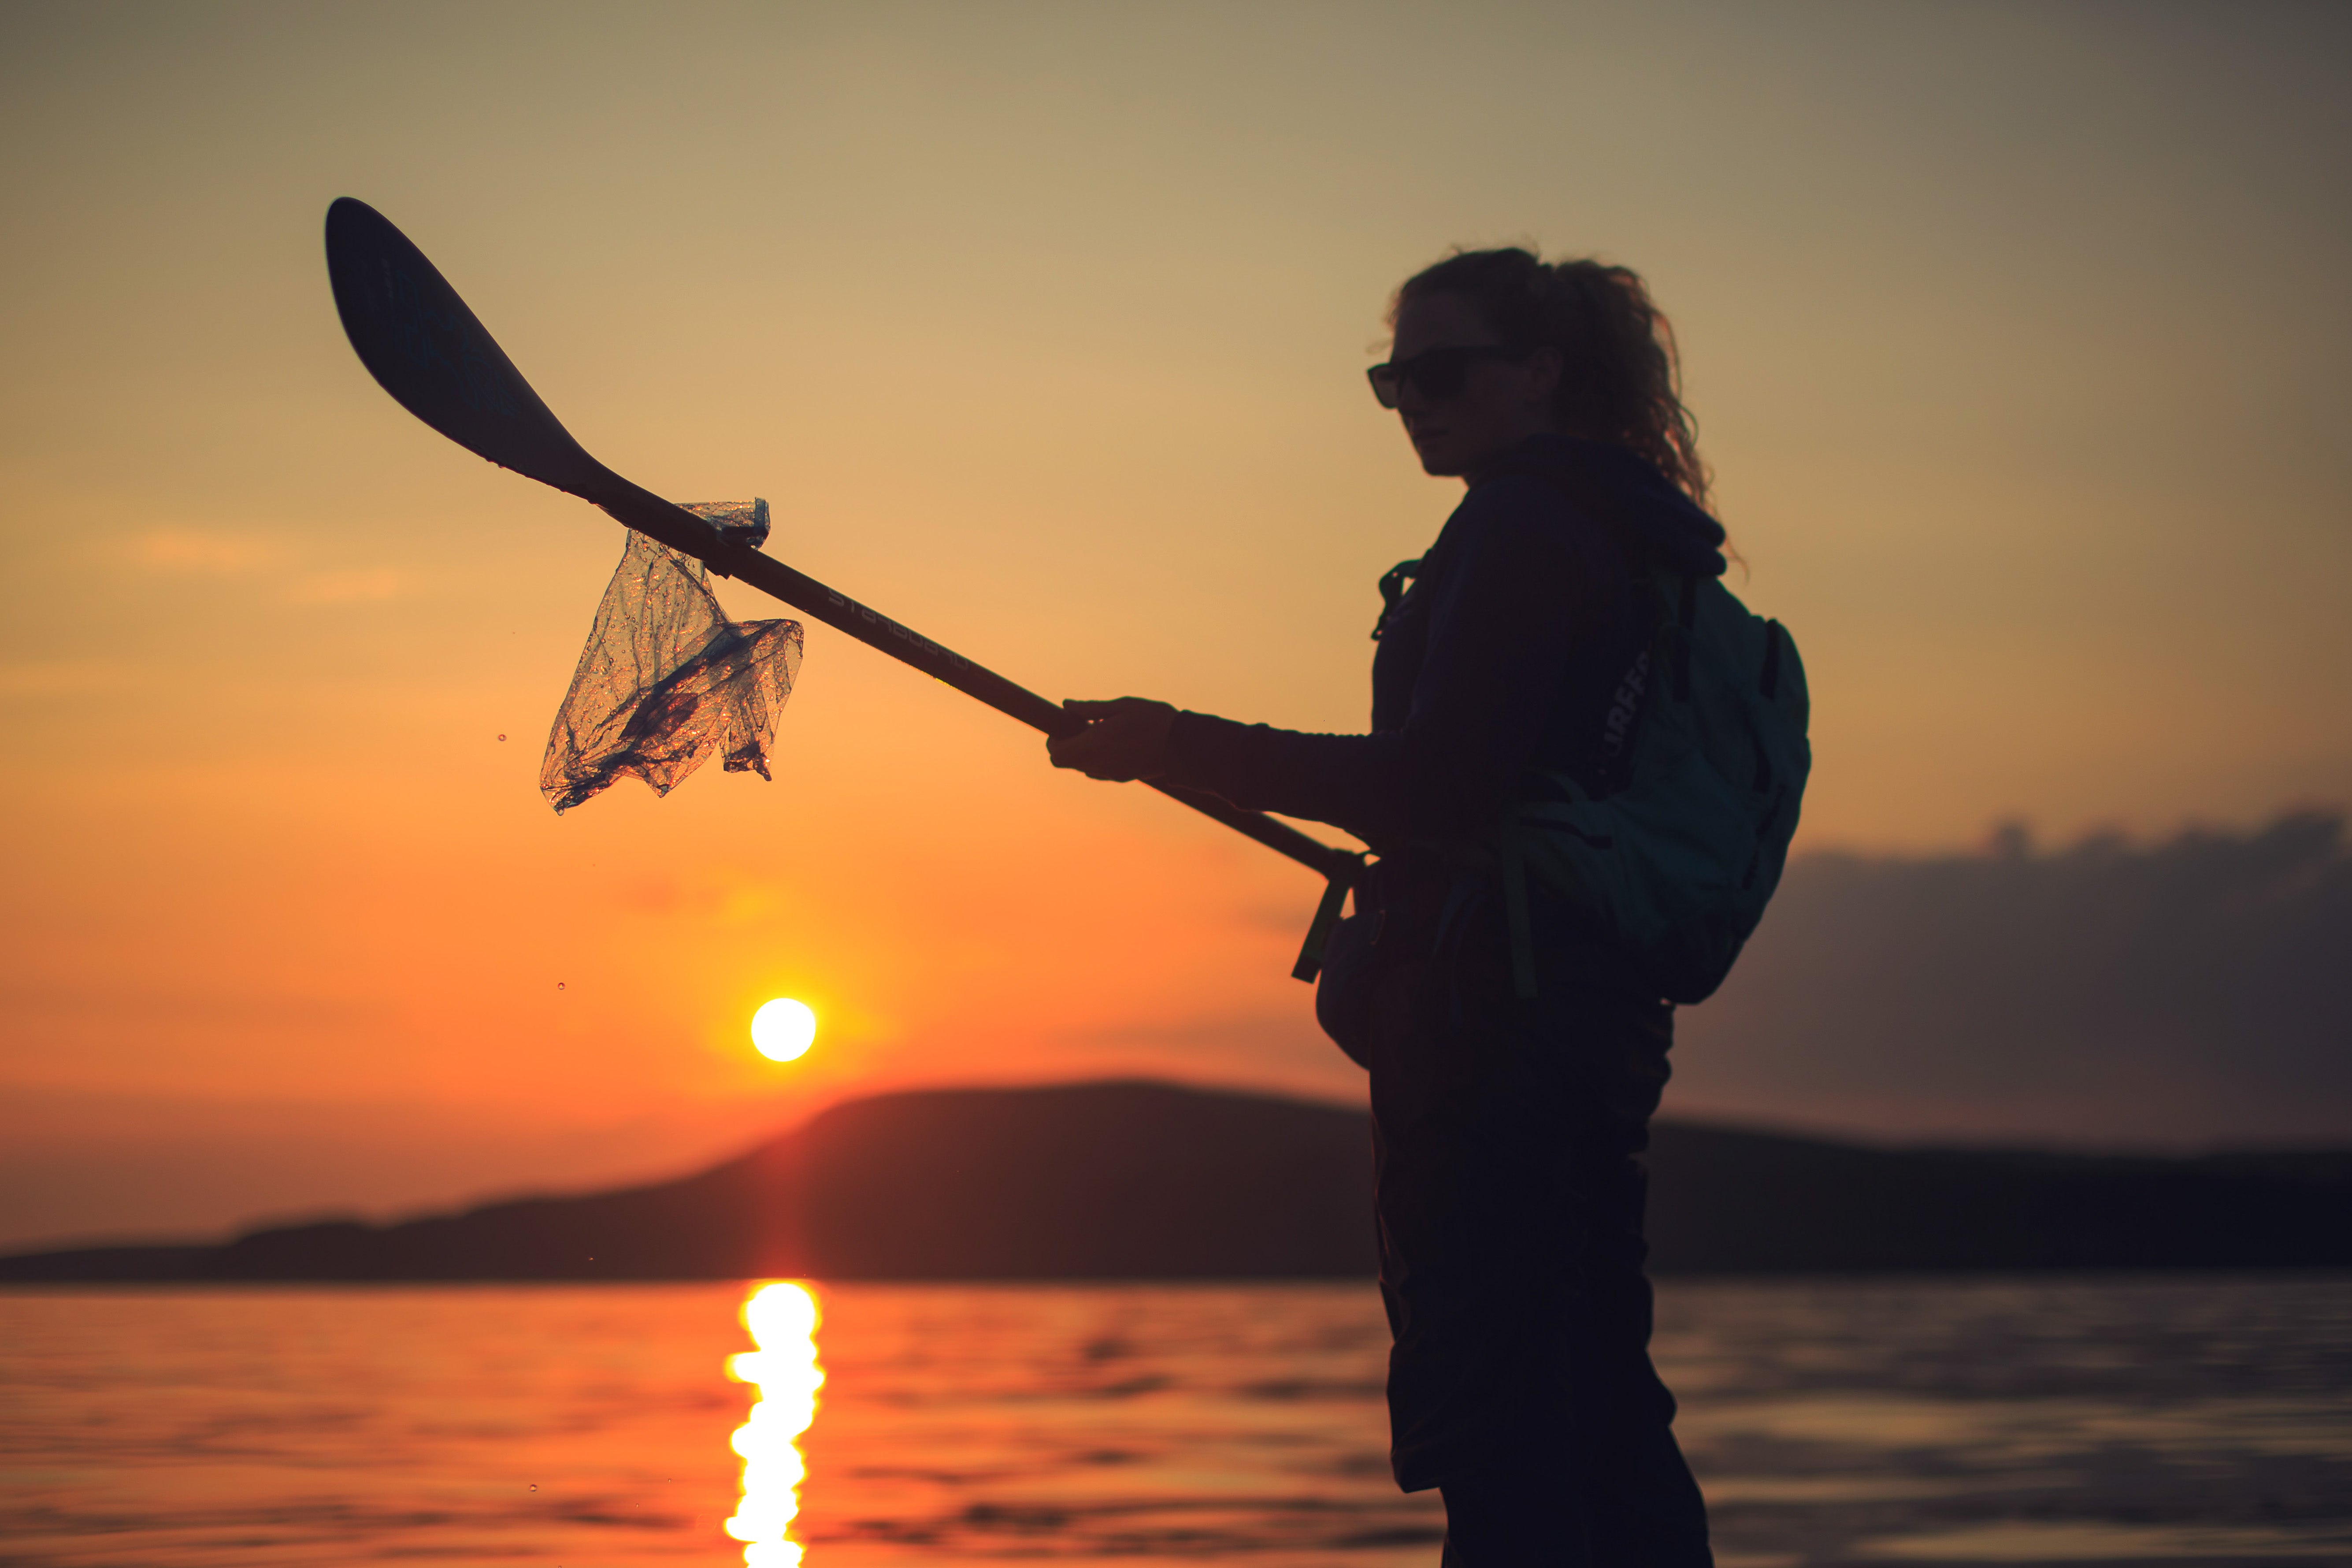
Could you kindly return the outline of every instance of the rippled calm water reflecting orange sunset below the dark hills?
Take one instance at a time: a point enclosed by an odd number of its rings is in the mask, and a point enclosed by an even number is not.
[[[731,1361],[753,1291],[0,1295],[0,1563],[1437,1559],[1369,1286],[783,1288]],[[2352,1563],[2347,1279],[1668,1284],[1658,1356],[1729,1568]]]

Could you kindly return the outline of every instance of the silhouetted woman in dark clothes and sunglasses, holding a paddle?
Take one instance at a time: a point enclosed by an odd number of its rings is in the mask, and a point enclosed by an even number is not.
[[[1051,755],[1378,853],[1317,1018],[1371,1072],[1390,1458],[1404,1490],[1442,1488],[1444,1561],[1708,1563],[1642,1276],[1635,1154],[1672,1006],[1541,886],[1522,999],[1486,846],[1543,771],[1606,764],[1604,719],[1651,630],[1646,564],[1722,574],[1724,531],[1635,273],[1465,252],[1411,277],[1390,324],[1374,393],[1421,465],[1470,491],[1383,581],[1371,733],[1117,698],[1073,703],[1091,724]]]

